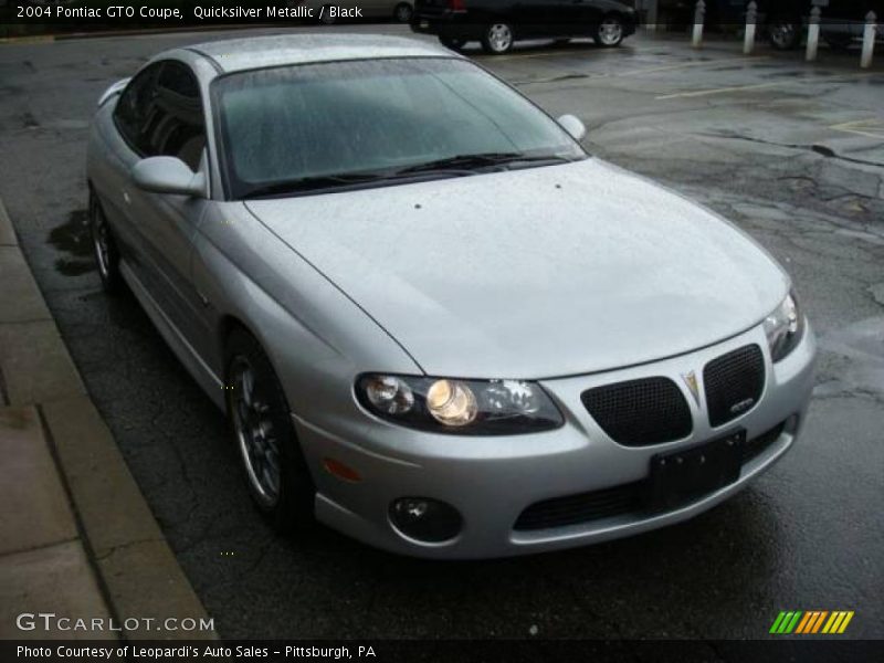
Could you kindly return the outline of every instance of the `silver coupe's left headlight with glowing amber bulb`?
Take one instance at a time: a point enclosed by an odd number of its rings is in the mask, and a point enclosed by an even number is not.
[[[512,435],[560,427],[561,413],[534,382],[365,375],[356,396],[402,425],[463,435]]]

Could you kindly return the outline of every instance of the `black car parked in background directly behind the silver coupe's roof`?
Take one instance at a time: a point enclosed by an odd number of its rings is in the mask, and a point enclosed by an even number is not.
[[[638,22],[633,8],[613,0],[417,0],[411,29],[450,49],[477,40],[487,53],[505,53],[522,39],[591,36],[618,46]]]

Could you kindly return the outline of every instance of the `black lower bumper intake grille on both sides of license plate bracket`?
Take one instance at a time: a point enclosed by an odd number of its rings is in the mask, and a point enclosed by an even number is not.
[[[786,422],[783,421],[757,438],[746,441],[743,448],[744,464],[776,442],[785,428]],[[656,512],[649,508],[648,498],[651,495],[649,484],[650,480],[645,478],[600,491],[536,502],[522,512],[513,528],[520,532],[550,529],[628,514],[650,515]],[[703,495],[692,495],[687,502],[677,506],[702,498]]]

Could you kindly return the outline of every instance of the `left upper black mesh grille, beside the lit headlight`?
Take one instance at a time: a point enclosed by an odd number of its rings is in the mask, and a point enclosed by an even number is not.
[[[643,378],[585,391],[580,399],[592,419],[620,444],[646,446],[691,434],[691,410],[669,378]]]

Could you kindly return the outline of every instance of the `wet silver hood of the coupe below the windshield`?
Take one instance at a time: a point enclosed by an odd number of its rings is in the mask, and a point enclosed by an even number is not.
[[[789,287],[734,225],[598,159],[245,204],[434,376],[678,355],[758,324]]]

